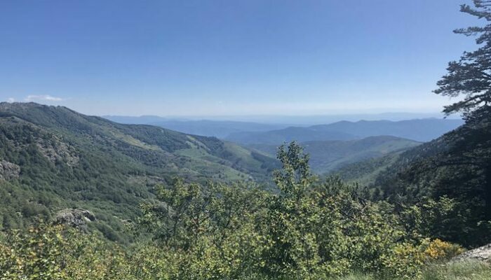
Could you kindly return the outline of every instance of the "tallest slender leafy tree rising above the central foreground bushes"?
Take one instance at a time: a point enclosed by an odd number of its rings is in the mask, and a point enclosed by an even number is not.
[[[306,216],[314,207],[309,203],[308,192],[315,178],[309,169],[309,156],[304,155],[302,147],[292,142],[288,147],[278,148],[278,160],[283,168],[274,172],[274,182],[280,190],[271,197],[268,206],[267,238],[264,250],[264,266],[267,274],[309,274],[316,260],[315,236],[309,232]]]

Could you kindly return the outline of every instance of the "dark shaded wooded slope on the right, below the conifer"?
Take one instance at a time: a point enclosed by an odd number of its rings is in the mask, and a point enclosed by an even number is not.
[[[474,116],[476,115],[476,116]],[[491,110],[483,107],[447,134],[384,158],[341,169],[365,181],[372,197],[398,205],[436,207],[428,235],[466,246],[491,241]],[[422,214],[423,215],[423,214]],[[424,223],[424,221],[415,221]]]

